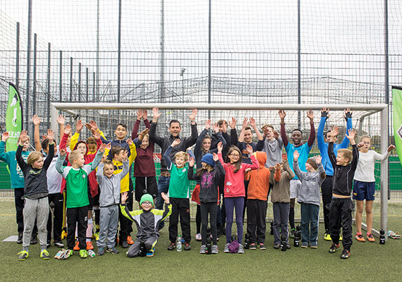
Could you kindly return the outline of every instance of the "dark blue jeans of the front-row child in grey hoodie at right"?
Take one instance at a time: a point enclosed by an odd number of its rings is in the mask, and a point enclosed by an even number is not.
[[[319,206],[316,204],[301,203],[302,222],[300,231],[302,233],[302,245],[317,246]]]

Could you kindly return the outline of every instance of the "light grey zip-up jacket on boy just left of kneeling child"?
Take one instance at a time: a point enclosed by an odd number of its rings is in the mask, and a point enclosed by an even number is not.
[[[122,172],[113,174],[110,178],[103,174],[104,167],[105,164],[102,163],[97,166],[96,178],[100,189],[100,207],[109,207],[120,203],[120,181],[129,173],[129,161],[123,161]]]

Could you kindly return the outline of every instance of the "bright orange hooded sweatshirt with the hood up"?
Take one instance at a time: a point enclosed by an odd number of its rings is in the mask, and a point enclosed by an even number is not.
[[[259,168],[249,172],[250,182],[247,190],[247,199],[268,200],[269,176],[271,172],[265,167],[266,153],[256,152],[256,159],[259,162]],[[275,173],[275,179],[280,180],[280,172]]]

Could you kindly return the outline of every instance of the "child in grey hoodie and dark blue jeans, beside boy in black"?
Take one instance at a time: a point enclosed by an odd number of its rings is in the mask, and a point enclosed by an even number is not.
[[[307,172],[301,171],[297,163],[299,154],[293,154],[293,169],[302,184],[297,197],[301,204],[302,222],[300,229],[302,233],[302,247],[310,246],[317,248],[319,204],[321,197],[319,188],[325,179],[324,166],[321,164],[321,156],[312,157],[306,161]],[[318,171],[317,171],[318,168]],[[309,228],[310,226],[310,228]]]

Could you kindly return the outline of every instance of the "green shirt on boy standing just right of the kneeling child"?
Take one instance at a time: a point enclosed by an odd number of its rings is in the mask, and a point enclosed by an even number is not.
[[[190,181],[187,177],[189,171],[189,164],[182,168],[177,168],[175,164],[169,169],[170,183],[169,183],[169,197],[188,199],[190,197]]]

